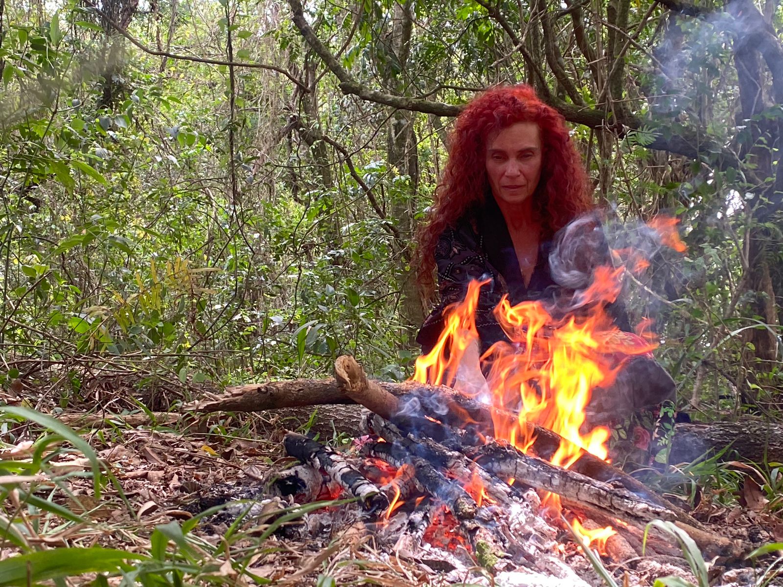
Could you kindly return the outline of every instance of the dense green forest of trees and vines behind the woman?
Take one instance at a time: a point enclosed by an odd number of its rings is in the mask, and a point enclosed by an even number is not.
[[[66,407],[96,366],[141,390],[346,352],[404,378],[449,126],[526,82],[610,216],[680,219],[687,256],[628,292],[680,407],[774,417],[781,25],[776,0],[0,0],[0,384]]]

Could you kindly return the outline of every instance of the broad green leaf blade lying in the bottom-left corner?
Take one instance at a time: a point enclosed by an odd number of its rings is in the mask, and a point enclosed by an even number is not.
[[[85,573],[118,572],[128,559],[149,560],[149,557],[100,546],[57,548],[12,556],[0,561],[0,587],[34,585]]]

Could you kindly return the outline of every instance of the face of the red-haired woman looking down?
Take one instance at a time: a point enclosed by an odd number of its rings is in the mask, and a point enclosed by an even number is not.
[[[518,122],[489,135],[487,177],[500,203],[518,205],[536,191],[543,155],[540,134],[535,122]]]

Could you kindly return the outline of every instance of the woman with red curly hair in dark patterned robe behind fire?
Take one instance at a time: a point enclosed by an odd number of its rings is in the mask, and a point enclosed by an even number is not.
[[[511,304],[539,300],[556,308],[565,291],[586,285],[580,280],[589,280],[595,266],[610,258],[600,222],[588,219],[566,229],[571,232],[564,229],[592,208],[589,179],[560,113],[526,85],[478,95],[456,119],[449,161],[419,236],[420,283],[431,296],[437,268],[441,298],[417,337],[423,352],[437,342],[444,309],[464,298],[471,279],[489,279],[476,311],[482,352],[506,338],[493,315],[504,294]],[[581,256],[564,270],[552,243],[567,245],[575,236],[579,246],[572,249]],[[608,304],[607,311],[620,330],[632,331],[621,304]],[[672,423],[659,419],[656,408],[673,391],[657,363],[637,358],[627,362],[612,391],[596,398],[594,412],[602,411],[602,403],[614,406],[611,416],[599,417],[615,421],[601,423],[632,420],[619,427],[619,437],[626,437],[619,440],[646,449],[648,440],[670,434],[660,428]],[[673,413],[670,402],[666,411]]]

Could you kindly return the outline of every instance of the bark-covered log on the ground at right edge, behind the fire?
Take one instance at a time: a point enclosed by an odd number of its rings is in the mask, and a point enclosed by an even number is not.
[[[705,453],[737,452],[755,463],[783,463],[783,425],[755,420],[712,424],[679,423],[672,440],[669,463],[693,463]]]

